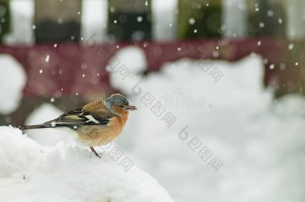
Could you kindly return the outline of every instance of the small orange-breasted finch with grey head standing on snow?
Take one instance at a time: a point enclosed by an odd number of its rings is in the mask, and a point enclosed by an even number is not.
[[[40,125],[19,126],[20,130],[41,128],[68,128],[76,132],[79,144],[88,146],[100,158],[93,147],[105,145],[121,133],[130,111],[136,110],[121,94],[112,94],[105,100],[89,103],[58,118]]]

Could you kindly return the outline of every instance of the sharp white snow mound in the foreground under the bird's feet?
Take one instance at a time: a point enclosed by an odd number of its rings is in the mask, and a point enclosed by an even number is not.
[[[153,178],[135,166],[125,172],[108,154],[97,159],[79,147],[43,147],[0,127],[0,201],[172,202]]]

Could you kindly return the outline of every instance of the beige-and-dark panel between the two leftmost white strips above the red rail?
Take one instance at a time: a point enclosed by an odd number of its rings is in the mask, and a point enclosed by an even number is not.
[[[81,0],[35,0],[36,42],[79,41]]]

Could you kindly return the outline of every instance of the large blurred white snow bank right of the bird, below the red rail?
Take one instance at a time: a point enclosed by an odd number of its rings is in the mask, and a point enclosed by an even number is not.
[[[140,53],[129,58],[133,57],[140,58]],[[138,167],[159,179],[176,202],[301,202],[305,99],[273,99],[272,91],[263,87],[260,56],[233,63],[212,60],[210,70],[216,67],[223,73],[217,82],[198,67],[199,62],[184,58],[144,77],[111,77],[138,108],[117,144],[135,157]],[[132,61],[125,65],[132,69]],[[147,92],[154,96],[154,104],[159,100],[166,108],[159,117],[140,101]],[[175,105],[160,99],[165,96]],[[183,98],[206,102],[183,107]],[[162,120],[166,112],[176,118],[170,127]],[[183,129],[186,140],[179,138]],[[198,157],[204,146],[212,152],[205,162]],[[223,163],[217,172],[209,164],[214,157]]]

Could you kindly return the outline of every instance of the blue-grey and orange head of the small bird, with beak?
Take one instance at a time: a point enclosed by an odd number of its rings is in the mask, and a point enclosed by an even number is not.
[[[121,94],[115,93],[104,101],[106,107],[113,113],[121,116],[136,110],[135,106],[129,105],[128,100]]]

